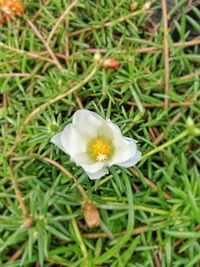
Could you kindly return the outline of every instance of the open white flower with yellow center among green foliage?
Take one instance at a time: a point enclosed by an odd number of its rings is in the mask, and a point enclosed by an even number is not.
[[[90,179],[108,174],[109,166],[127,168],[141,158],[135,140],[122,136],[116,124],[86,109],[76,111],[72,123],[53,136],[51,142],[69,154],[70,160],[81,166]]]

